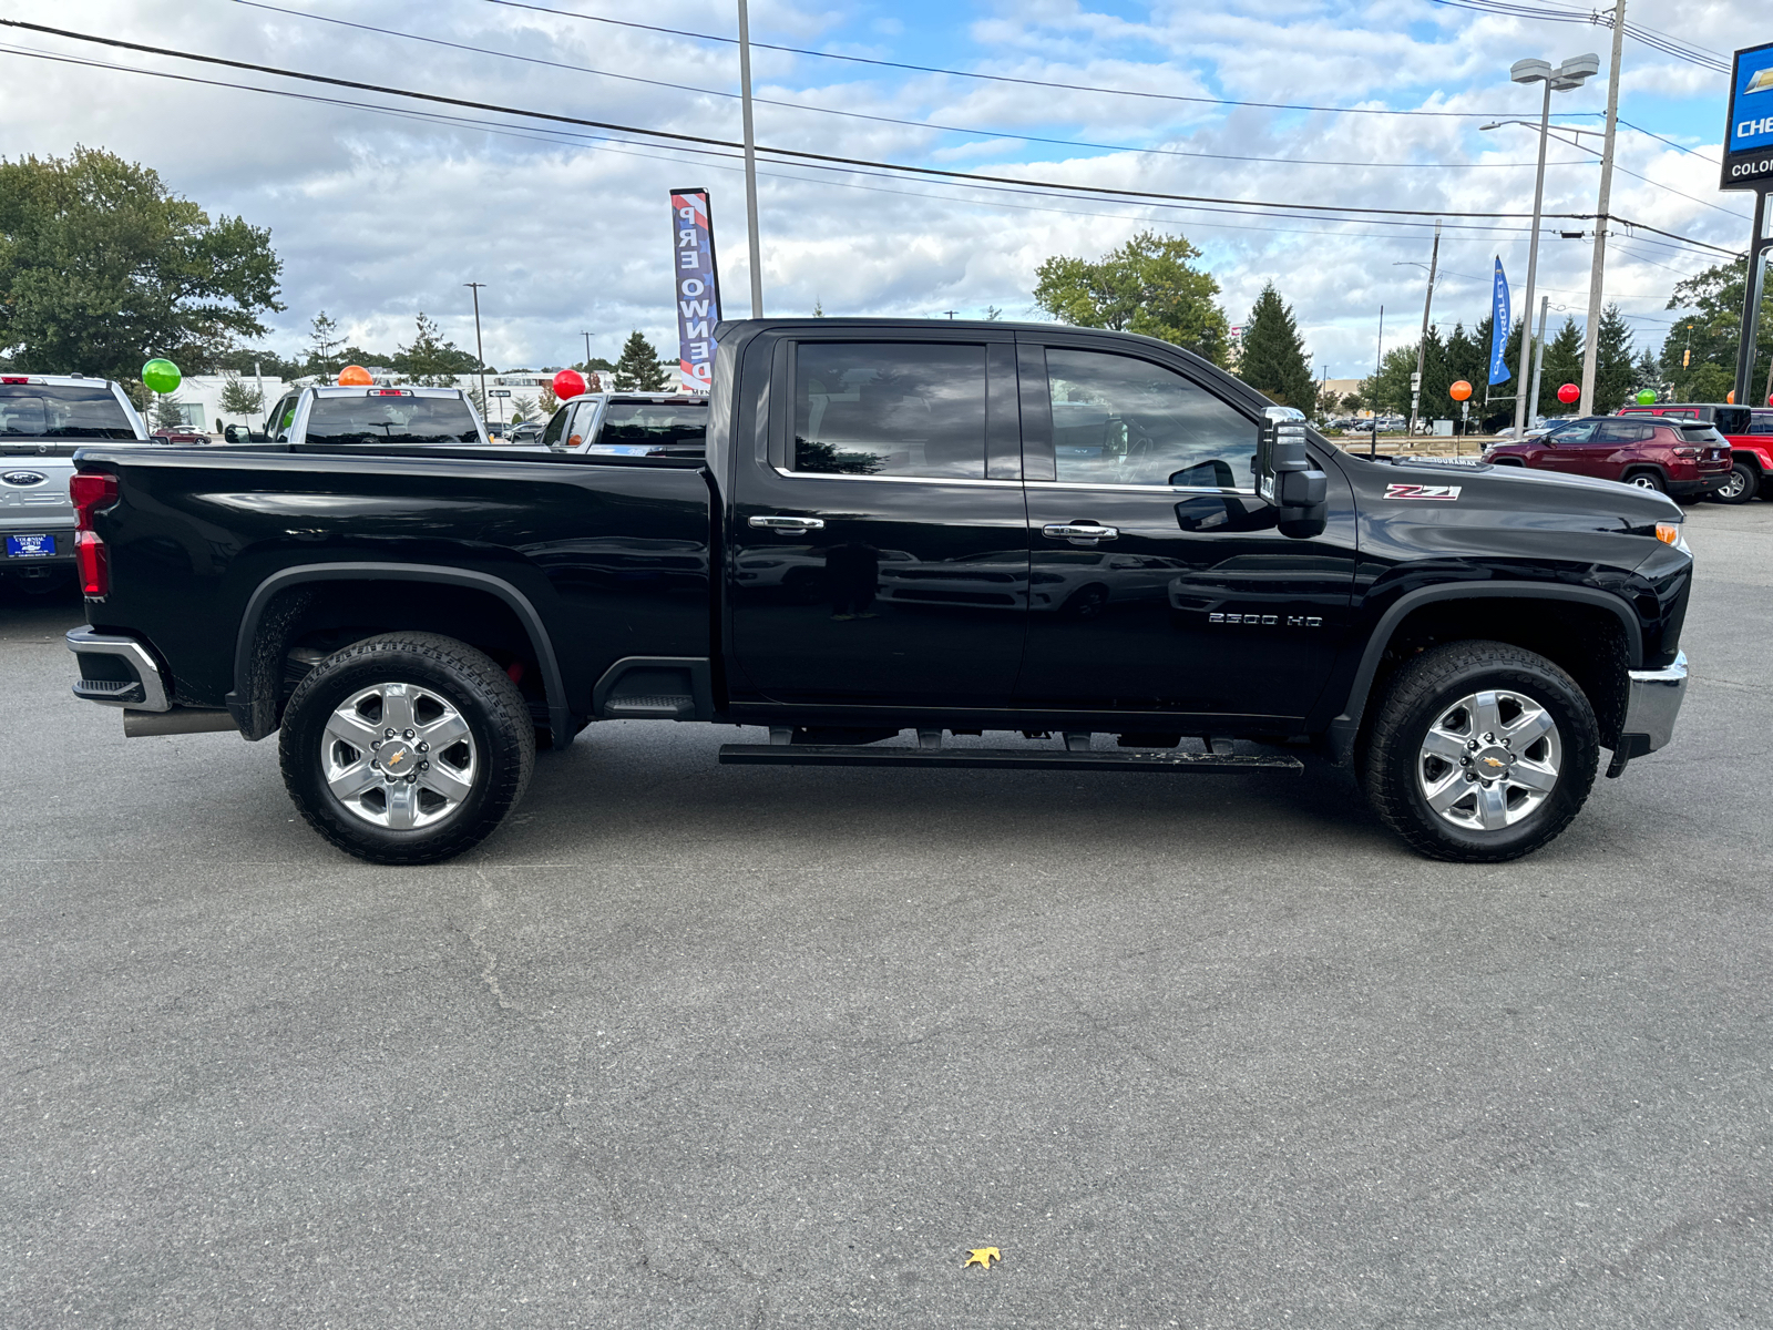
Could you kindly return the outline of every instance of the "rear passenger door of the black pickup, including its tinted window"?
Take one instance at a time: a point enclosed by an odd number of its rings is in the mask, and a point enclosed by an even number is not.
[[[1028,530],[1009,333],[775,346],[727,539],[736,702],[1005,708]]]

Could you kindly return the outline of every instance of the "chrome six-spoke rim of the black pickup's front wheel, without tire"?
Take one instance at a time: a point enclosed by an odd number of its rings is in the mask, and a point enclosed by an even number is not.
[[[1500,832],[1546,802],[1562,763],[1557,722],[1539,702],[1500,690],[1470,693],[1429,725],[1417,786],[1443,821]]]

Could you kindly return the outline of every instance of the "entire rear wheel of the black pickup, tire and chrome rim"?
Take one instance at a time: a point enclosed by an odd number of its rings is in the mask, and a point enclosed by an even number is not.
[[[477,846],[523,798],[535,729],[486,654],[392,633],[301,679],[278,755],[289,796],[335,846],[374,864],[434,864]]]

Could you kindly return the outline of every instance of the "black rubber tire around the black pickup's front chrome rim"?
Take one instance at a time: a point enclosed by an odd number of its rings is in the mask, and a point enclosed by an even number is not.
[[[1525,809],[1532,796],[1521,794],[1523,810],[1516,814],[1511,809],[1507,814],[1518,816],[1518,821],[1498,830],[1456,825],[1457,810],[1436,812],[1424,789],[1429,778],[1425,763],[1440,761],[1425,750],[1431,727],[1461,699],[1484,692],[1505,692],[1543,708],[1555,722],[1551,741],[1560,748],[1555,786],[1530,810]],[[1496,766],[1488,752],[1507,757],[1493,747],[1484,747],[1472,757]],[[1392,676],[1362,755],[1362,784],[1369,803],[1411,849],[1429,858],[1500,864],[1530,855],[1569,826],[1594,786],[1601,738],[1594,708],[1582,688],[1544,656],[1505,642],[1450,642],[1424,651]],[[1461,763],[1472,766],[1463,757]],[[1459,780],[1466,777],[1459,775]],[[1519,793],[1505,780],[1496,784],[1504,789],[1504,800]],[[1475,796],[1475,789],[1472,793]]]

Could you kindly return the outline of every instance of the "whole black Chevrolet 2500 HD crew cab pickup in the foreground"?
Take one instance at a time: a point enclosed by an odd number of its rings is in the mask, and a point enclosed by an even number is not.
[[[1619,775],[1670,738],[1693,564],[1661,495],[1344,454],[1122,333],[718,340],[706,458],[83,449],[74,693],[128,734],[280,734],[309,823],[388,864],[473,846],[537,747],[610,718],[768,727],[725,763],[1183,775],[1310,745],[1456,860],[1544,844],[1603,748]]]

